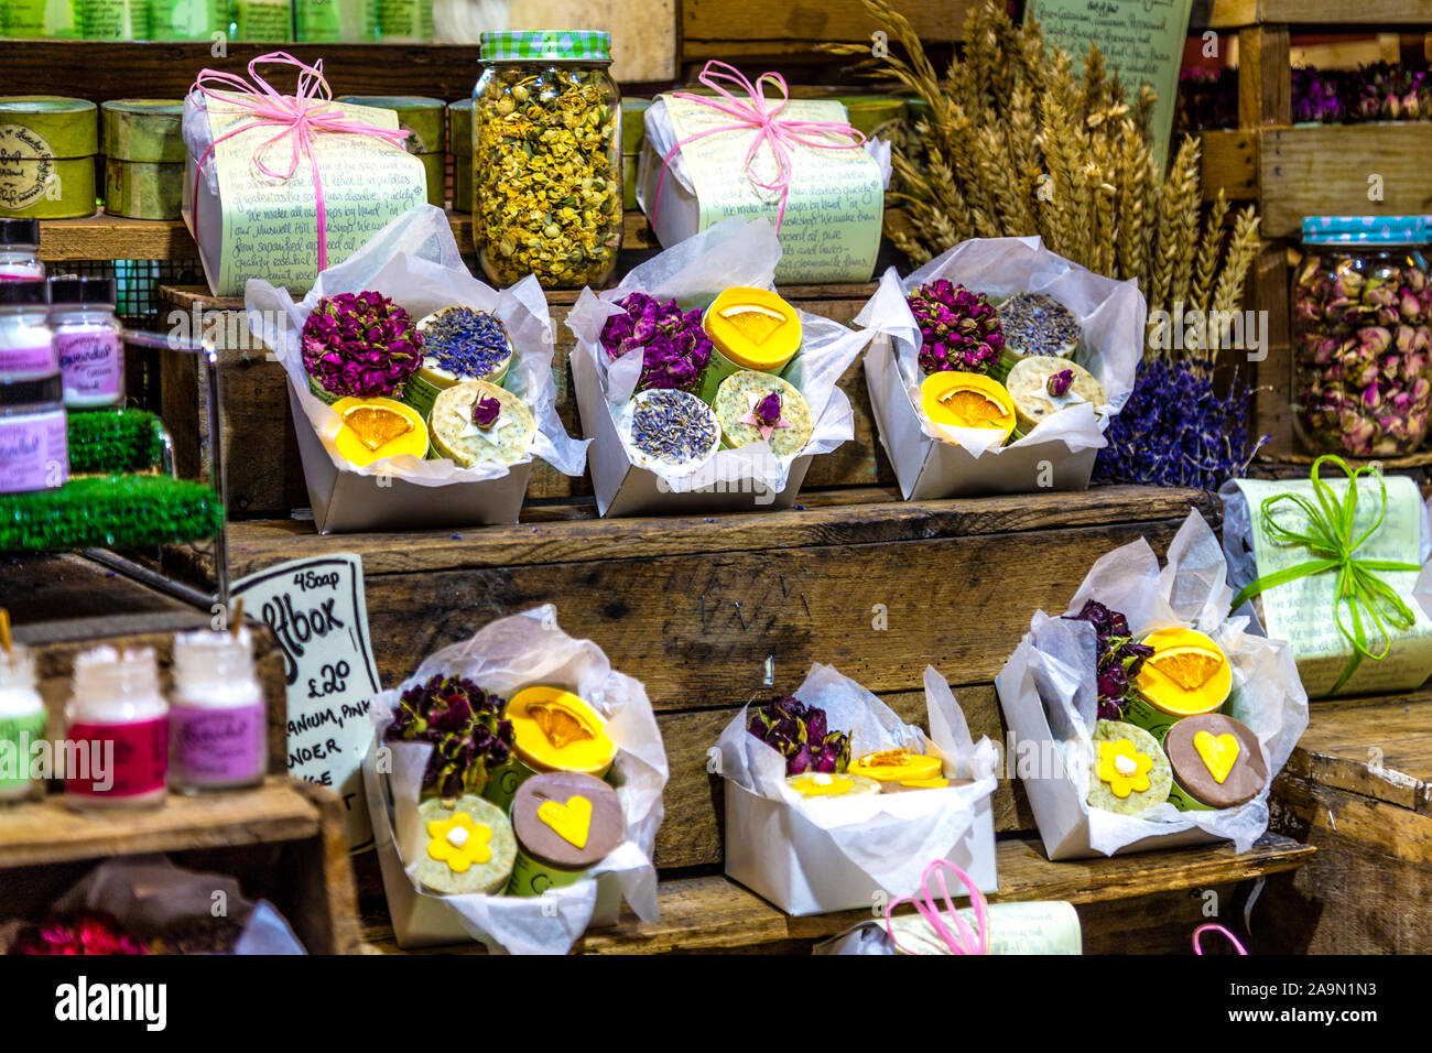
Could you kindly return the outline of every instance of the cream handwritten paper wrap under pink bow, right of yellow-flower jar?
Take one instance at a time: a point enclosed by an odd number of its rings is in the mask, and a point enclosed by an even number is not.
[[[679,140],[732,123],[729,115],[710,106],[672,96],[664,99]],[[841,103],[808,99],[792,99],[782,116],[838,123],[846,119]],[[723,132],[682,148],[700,203],[699,229],[732,216],[766,216],[775,223],[779,195],[758,189],[746,175],[746,152],[755,135],[755,130]],[[832,138],[831,142],[849,140]],[[793,146],[790,155],[790,196],[780,221],[782,255],[776,281],[869,281],[885,208],[879,165],[863,149]],[[759,150],[756,166],[762,182],[775,179],[769,149]]]

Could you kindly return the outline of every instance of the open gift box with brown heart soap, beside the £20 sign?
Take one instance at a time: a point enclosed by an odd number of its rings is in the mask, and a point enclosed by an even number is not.
[[[564,954],[621,901],[656,921],[666,752],[642,683],[548,605],[374,698],[364,787],[402,947]]]

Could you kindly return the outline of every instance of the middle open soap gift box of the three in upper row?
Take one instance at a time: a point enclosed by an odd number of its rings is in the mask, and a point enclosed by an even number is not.
[[[765,219],[726,219],[583,289],[571,374],[603,516],[789,507],[855,436],[838,383],[868,337],[773,289]]]

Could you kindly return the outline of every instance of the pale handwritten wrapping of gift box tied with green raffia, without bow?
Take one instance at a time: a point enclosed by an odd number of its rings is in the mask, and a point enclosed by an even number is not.
[[[1348,493],[1348,480],[1323,480],[1339,500]],[[1392,560],[1418,563],[1422,539],[1422,494],[1416,483],[1405,476],[1392,476],[1388,484],[1388,511],[1382,526],[1372,537],[1358,547],[1358,559]],[[1319,559],[1302,546],[1279,544],[1262,527],[1259,510],[1263,501],[1280,493],[1313,497],[1309,480],[1262,480],[1240,479],[1239,490],[1247,499],[1253,517],[1253,559],[1259,576],[1270,574],[1285,567]],[[1360,536],[1372,526],[1380,507],[1378,484],[1365,479],[1358,487],[1358,509],[1353,516],[1353,536]],[[1290,530],[1302,533],[1307,529],[1307,517],[1292,501],[1274,506],[1277,521]],[[1339,691],[1339,695],[1376,695],[1392,691],[1408,691],[1419,686],[1432,673],[1432,619],[1428,619],[1422,605],[1412,596],[1418,583],[1416,570],[1379,570],[1378,577],[1390,585],[1412,609],[1416,622],[1406,632],[1398,633],[1390,653],[1380,662],[1363,659],[1358,672]],[[1270,639],[1287,640],[1297,660],[1297,675],[1309,698],[1317,698],[1332,691],[1342,676],[1352,645],[1337,629],[1333,616],[1333,595],[1337,590],[1337,573],[1325,572],[1279,585],[1262,595],[1263,629]],[[1352,615],[1343,605],[1343,622],[1352,629]],[[1363,616],[1369,648],[1382,649],[1376,628]]]

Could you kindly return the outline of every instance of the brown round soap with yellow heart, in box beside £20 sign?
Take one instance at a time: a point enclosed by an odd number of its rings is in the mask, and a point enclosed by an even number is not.
[[[513,798],[513,831],[521,850],[544,867],[583,871],[626,838],[617,791],[594,775],[533,775]]]

